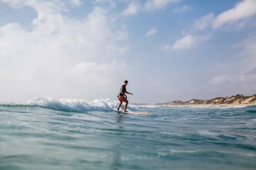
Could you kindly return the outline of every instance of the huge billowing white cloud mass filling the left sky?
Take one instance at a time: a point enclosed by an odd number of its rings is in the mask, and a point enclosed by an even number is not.
[[[0,79],[5,82],[0,85],[2,99],[47,94],[86,94],[87,99],[95,99],[102,94],[94,85],[116,81],[113,77],[125,68],[118,60],[128,50],[124,41],[128,33],[125,27],[116,26],[104,9],[95,7],[77,20],[61,14],[67,1],[2,1],[38,12],[29,30],[18,23],[0,27]],[[4,89],[12,89],[12,94]],[[111,88],[105,95],[108,93]]]

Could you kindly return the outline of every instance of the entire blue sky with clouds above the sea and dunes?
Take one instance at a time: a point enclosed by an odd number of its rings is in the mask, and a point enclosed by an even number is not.
[[[256,94],[256,0],[0,0],[0,101]]]

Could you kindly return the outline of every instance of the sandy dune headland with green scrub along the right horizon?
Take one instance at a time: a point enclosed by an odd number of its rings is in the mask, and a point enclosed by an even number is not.
[[[174,100],[172,102],[157,103],[156,105],[166,106],[166,105],[253,105],[256,104],[256,94],[252,96],[244,96],[237,94],[231,97],[215,97],[214,99],[200,100],[191,99],[189,101]]]

